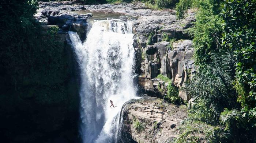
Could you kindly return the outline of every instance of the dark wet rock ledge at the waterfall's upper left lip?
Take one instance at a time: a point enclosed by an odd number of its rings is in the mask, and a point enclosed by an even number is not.
[[[68,3],[68,2],[67,2]],[[69,4],[69,3],[68,3]],[[85,10],[81,5],[66,5],[65,2],[41,2],[35,17],[45,25],[58,25],[62,31],[75,31],[82,41],[86,38],[87,19],[92,15],[78,15],[69,11]]]

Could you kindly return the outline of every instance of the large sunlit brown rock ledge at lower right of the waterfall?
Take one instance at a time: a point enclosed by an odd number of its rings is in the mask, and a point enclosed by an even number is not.
[[[138,143],[169,143],[177,138],[177,128],[186,117],[186,106],[147,97],[125,105],[123,131]]]

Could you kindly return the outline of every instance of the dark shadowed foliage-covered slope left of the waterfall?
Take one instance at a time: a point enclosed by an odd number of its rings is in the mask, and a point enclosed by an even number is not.
[[[76,118],[78,85],[69,83],[71,59],[58,42],[58,28],[43,31],[34,19],[37,7],[36,0],[0,2],[0,118],[6,123],[3,136],[20,136],[10,142],[40,140]]]

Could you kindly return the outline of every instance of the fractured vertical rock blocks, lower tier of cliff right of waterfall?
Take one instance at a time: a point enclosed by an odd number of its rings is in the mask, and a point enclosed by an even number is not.
[[[144,73],[139,76],[140,88],[159,94],[157,85],[159,81],[163,81],[155,79],[158,74],[168,77],[174,86],[180,88],[195,73],[192,41],[178,40],[172,44],[172,50],[168,49],[168,46],[169,42],[162,41],[144,48],[146,58],[140,68]],[[162,90],[166,90],[166,88]],[[183,91],[180,91],[179,96],[187,101],[191,99]]]

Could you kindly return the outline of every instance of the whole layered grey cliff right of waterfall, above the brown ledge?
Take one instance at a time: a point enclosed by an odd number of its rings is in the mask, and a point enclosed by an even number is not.
[[[193,46],[188,33],[195,16],[189,12],[185,19],[177,20],[172,10],[153,13],[136,20],[134,45],[137,51],[136,68],[140,74],[139,86],[147,93],[157,95],[160,94],[157,89],[159,82],[154,79],[157,75],[167,76],[174,86],[180,88],[195,72]],[[181,91],[180,96],[184,100],[191,99]]]

